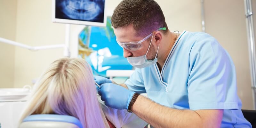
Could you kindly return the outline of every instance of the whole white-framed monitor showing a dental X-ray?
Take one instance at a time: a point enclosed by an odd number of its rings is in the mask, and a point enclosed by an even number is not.
[[[106,0],[52,0],[52,21],[106,26]]]

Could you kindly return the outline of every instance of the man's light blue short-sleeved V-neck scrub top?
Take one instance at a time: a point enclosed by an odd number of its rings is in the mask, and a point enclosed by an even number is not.
[[[206,33],[183,31],[161,72],[157,64],[136,68],[124,84],[170,108],[224,109],[222,128],[252,127],[241,111],[234,63],[218,41]]]

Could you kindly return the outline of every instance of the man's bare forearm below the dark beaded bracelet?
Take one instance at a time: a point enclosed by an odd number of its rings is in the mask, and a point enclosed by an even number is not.
[[[141,119],[157,128],[220,127],[220,123],[211,124],[211,122],[200,117],[196,111],[168,108],[141,95],[133,104],[132,111]]]

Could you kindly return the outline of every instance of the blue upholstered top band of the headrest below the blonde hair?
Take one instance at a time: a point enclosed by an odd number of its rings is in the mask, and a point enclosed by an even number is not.
[[[67,115],[55,115],[55,114],[38,114],[38,115],[30,115],[26,117],[22,123],[26,122],[63,122],[63,123],[69,123],[69,124],[75,124],[78,128],[83,128],[81,122],[73,117],[73,116],[67,116]]]

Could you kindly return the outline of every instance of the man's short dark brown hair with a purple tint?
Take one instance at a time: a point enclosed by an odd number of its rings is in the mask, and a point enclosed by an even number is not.
[[[164,34],[168,30],[163,11],[154,0],[123,0],[114,10],[111,23],[114,28],[133,25],[139,36],[162,27],[166,28]]]

